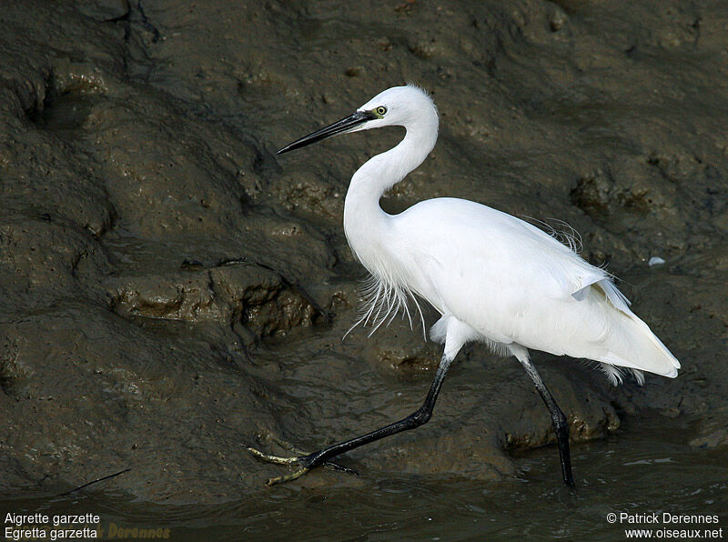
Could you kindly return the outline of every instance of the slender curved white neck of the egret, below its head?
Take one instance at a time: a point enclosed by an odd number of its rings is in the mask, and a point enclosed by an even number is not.
[[[387,253],[386,234],[391,218],[379,206],[379,198],[399,183],[430,154],[438,137],[434,109],[405,126],[399,145],[369,159],[351,177],[344,202],[344,233],[354,255],[375,273],[379,259]]]

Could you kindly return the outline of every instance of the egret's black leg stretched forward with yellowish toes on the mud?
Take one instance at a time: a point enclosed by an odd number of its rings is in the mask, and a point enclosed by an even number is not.
[[[340,442],[339,444],[323,448],[318,452],[308,454],[308,456],[268,456],[267,454],[263,454],[252,447],[248,447],[248,451],[250,451],[254,456],[259,457],[260,459],[263,459],[265,461],[269,461],[271,463],[298,463],[298,465],[301,466],[298,471],[288,476],[270,478],[268,480],[268,485],[271,486],[273,484],[288,482],[289,480],[294,480],[298,477],[301,477],[305,475],[311,468],[319,467],[319,465],[327,463],[331,457],[339,456],[340,454],[348,452],[349,450],[364,446],[365,444],[369,444],[370,442],[374,442],[375,440],[379,440],[380,438],[389,437],[391,435],[401,433],[402,431],[408,431],[410,429],[414,429],[415,427],[420,427],[421,425],[426,424],[432,416],[432,409],[435,407],[435,402],[437,401],[438,394],[440,394],[440,387],[442,387],[442,382],[445,380],[445,376],[448,373],[451,361],[452,359],[449,359],[447,356],[442,356],[442,359],[440,360],[440,366],[438,366],[438,371],[435,374],[435,379],[432,382],[432,386],[430,386],[430,392],[427,394],[425,402],[422,403],[422,406],[420,408],[410,414],[410,416],[399,420],[399,422],[389,424],[389,426],[386,427],[381,427],[376,431],[367,433],[366,435],[351,438],[344,442]]]

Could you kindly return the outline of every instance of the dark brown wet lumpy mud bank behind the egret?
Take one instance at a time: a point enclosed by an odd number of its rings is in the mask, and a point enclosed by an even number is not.
[[[131,499],[204,505],[238,527],[261,517],[258,534],[280,525],[274,509],[305,516],[303,496],[366,493],[372,516],[418,491],[441,511],[458,492],[497,503],[514,480],[532,485],[523,506],[556,498],[556,448],[529,452],[554,441],[548,413],[484,346],[460,354],[428,426],[342,459],[360,477],[319,469],[268,489],[285,469],[243,448],[314,450],[409,414],[430,386],[440,352],[421,329],[341,340],[365,278],[343,197],[400,133],[275,155],[405,81],[433,95],[440,140],[382,205],[459,196],[567,222],[682,362],[674,380],[614,388],[535,354],[578,483],[598,483],[607,449],[647,470],[647,450],[673,443],[670,483],[693,476],[724,504],[723,2],[24,2],[0,29],[4,506],[77,504],[47,499],[124,468],[75,498],[120,517]],[[609,472],[612,497],[632,484]],[[194,517],[178,523],[194,532]]]

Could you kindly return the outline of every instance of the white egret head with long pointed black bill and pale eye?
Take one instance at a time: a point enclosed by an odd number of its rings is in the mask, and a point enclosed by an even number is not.
[[[284,146],[278,151],[278,155],[311,145],[331,135],[349,134],[382,126],[407,127],[418,122],[434,122],[437,126],[437,109],[430,96],[415,85],[393,86],[371,98],[353,114]]]

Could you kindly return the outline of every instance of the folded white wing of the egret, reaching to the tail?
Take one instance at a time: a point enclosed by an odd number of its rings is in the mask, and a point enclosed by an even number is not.
[[[677,375],[680,363],[609,274],[535,226],[438,198],[392,216],[390,234],[405,284],[488,342]]]

